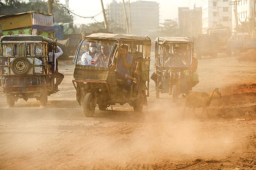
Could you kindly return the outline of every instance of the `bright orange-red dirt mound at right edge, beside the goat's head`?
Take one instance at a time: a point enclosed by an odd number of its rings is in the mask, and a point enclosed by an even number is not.
[[[222,95],[256,92],[256,82],[230,85],[222,89]]]

